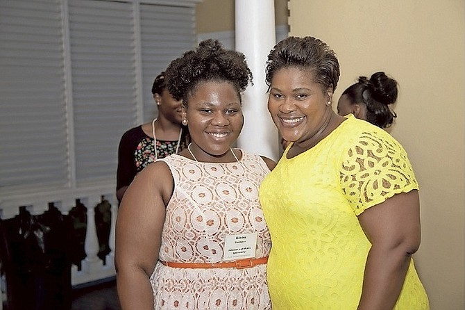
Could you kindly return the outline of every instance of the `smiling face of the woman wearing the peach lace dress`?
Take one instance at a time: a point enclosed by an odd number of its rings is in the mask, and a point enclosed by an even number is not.
[[[183,108],[198,161],[234,161],[230,147],[244,124],[239,95],[233,84],[208,81],[199,84]]]

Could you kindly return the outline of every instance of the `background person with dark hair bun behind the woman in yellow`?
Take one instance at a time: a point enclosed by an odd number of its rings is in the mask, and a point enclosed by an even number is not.
[[[397,81],[384,72],[375,72],[370,79],[360,76],[357,83],[350,85],[342,93],[337,103],[337,113],[352,113],[384,129],[390,127],[396,113],[389,108],[397,100]]]

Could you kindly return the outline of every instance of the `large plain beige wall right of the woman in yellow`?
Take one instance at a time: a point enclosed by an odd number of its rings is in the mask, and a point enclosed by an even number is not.
[[[289,12],[291,35],[312,35],[337,52],[335,99],[377,70],[399,82],[391,134],[421,186],[418,273],[431,309],[464,309],[464,1],[290,0]]]

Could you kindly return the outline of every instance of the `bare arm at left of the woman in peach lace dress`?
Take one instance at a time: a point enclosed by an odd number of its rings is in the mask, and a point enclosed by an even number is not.
[[[153,163],[124,194],[116,226],[115,266],[121,309],[153,310],[149,277],[160,250],[165,206],[173,178],[163,162]]]

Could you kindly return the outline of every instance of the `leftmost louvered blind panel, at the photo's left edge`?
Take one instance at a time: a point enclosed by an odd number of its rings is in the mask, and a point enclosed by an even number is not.
[[[0,1],[0,190],[67,186],[59,0]]]

